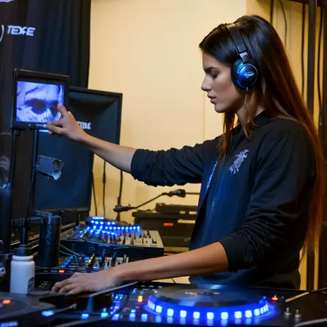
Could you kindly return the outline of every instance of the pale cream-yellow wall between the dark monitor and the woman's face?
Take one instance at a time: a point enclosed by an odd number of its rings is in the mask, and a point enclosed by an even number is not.
[[[160,150],[221,134],[221,115],[200,89],[204,72],[198,45],[219,23],[245,12],[246,0],[92,0],[89,88],[123,93],[121,144]],[[96,158],[98,215],[103,214],[102,167]],[[106,171],[106,213],[111,218],[119,172],[109,166]],[[199,185],[185,188],[199,191]],[[141,204],[166,190],[124,174],[122,204]],[[196,205],[197,199],[157,201]],[[130,212],[122,219],[130,221]]]

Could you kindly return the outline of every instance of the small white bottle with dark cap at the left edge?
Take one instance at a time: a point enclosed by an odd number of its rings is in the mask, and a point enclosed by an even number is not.
[[[34,290],[34,257],[26,246],[14,250],[10,266],[10,293],[28,294]]]

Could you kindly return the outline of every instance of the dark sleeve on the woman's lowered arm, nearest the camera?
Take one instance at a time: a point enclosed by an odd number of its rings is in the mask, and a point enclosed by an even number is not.
[[[219,240],[230,271],[263,263],[281,244],[296,219],[308,210],[315,159],[307,137],[290,133],[265,144],[258,156],[246,219]]]

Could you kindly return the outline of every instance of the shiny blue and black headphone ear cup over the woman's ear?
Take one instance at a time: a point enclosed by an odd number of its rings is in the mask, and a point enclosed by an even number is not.
[[[232,65],[231,75],[237,88],[248,90],[257,82],[258,70],[252,63],[243,63],[241,59],[237,59]]]

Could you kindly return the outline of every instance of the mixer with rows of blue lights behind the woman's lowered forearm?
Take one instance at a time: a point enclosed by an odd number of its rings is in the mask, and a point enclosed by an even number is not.
[[[91,255],[94,251],[96,255],[101,255],[103,250],[106,250],[106,255],[120,251],[135,260],[164,255],[164,244],[156,230],[117,226],[115,221],[97,218],[87,221],[80,230],[61,234],[61,245],[83,255]]]

